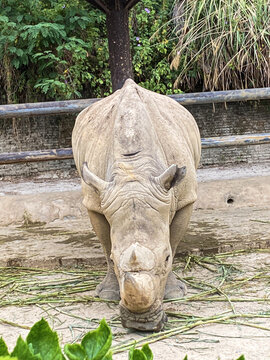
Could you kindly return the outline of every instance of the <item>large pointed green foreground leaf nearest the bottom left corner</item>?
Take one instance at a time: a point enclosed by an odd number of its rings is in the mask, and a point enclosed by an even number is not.
[[[31,328],[26,342],[32,346],[34,354],[40,354],[42,360],[63,359],[58,336],[43,318]]]

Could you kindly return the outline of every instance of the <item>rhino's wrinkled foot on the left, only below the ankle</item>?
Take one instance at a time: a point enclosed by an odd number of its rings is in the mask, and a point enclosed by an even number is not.
[[[96,287],[96,294],[102,299],[120,300],[119,284],[114,272],[107,272],[103,281]]]

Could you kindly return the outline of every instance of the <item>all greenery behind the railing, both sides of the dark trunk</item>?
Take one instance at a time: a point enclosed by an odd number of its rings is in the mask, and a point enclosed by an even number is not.
[[[0,0],[0,10],[0,103],[111,93],[105,15],[89,2]],[[269,18],[268,0],[140,1],[135,81],[163,94],[270,86]]]

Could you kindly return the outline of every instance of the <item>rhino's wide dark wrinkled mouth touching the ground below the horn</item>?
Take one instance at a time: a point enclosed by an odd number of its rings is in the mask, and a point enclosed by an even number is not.
[[[134,313],[121,304],[120,316],[123,327],[140,331],[160,331],[167,321],[162,305],[153,305],[144,313]]]

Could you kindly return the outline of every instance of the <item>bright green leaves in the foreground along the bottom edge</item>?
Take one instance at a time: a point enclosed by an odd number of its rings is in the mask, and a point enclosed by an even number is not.
[[[69,360],[112,360],[112,332],[105,319],[96,330],[88,332],[81,344],[66,344],[64,352]],[[52,331],[46,320],[41,319],[32,326],[24,341],[19,336],[11,354],[5,341],[0,338],[0,360],[65,360],[56,332]],[[129,360],[153,360],[148,344],[141,349],[132,347]],[[188,360],[187,355],[184,360]],[[237,360],[245,360],[241,355]]]

